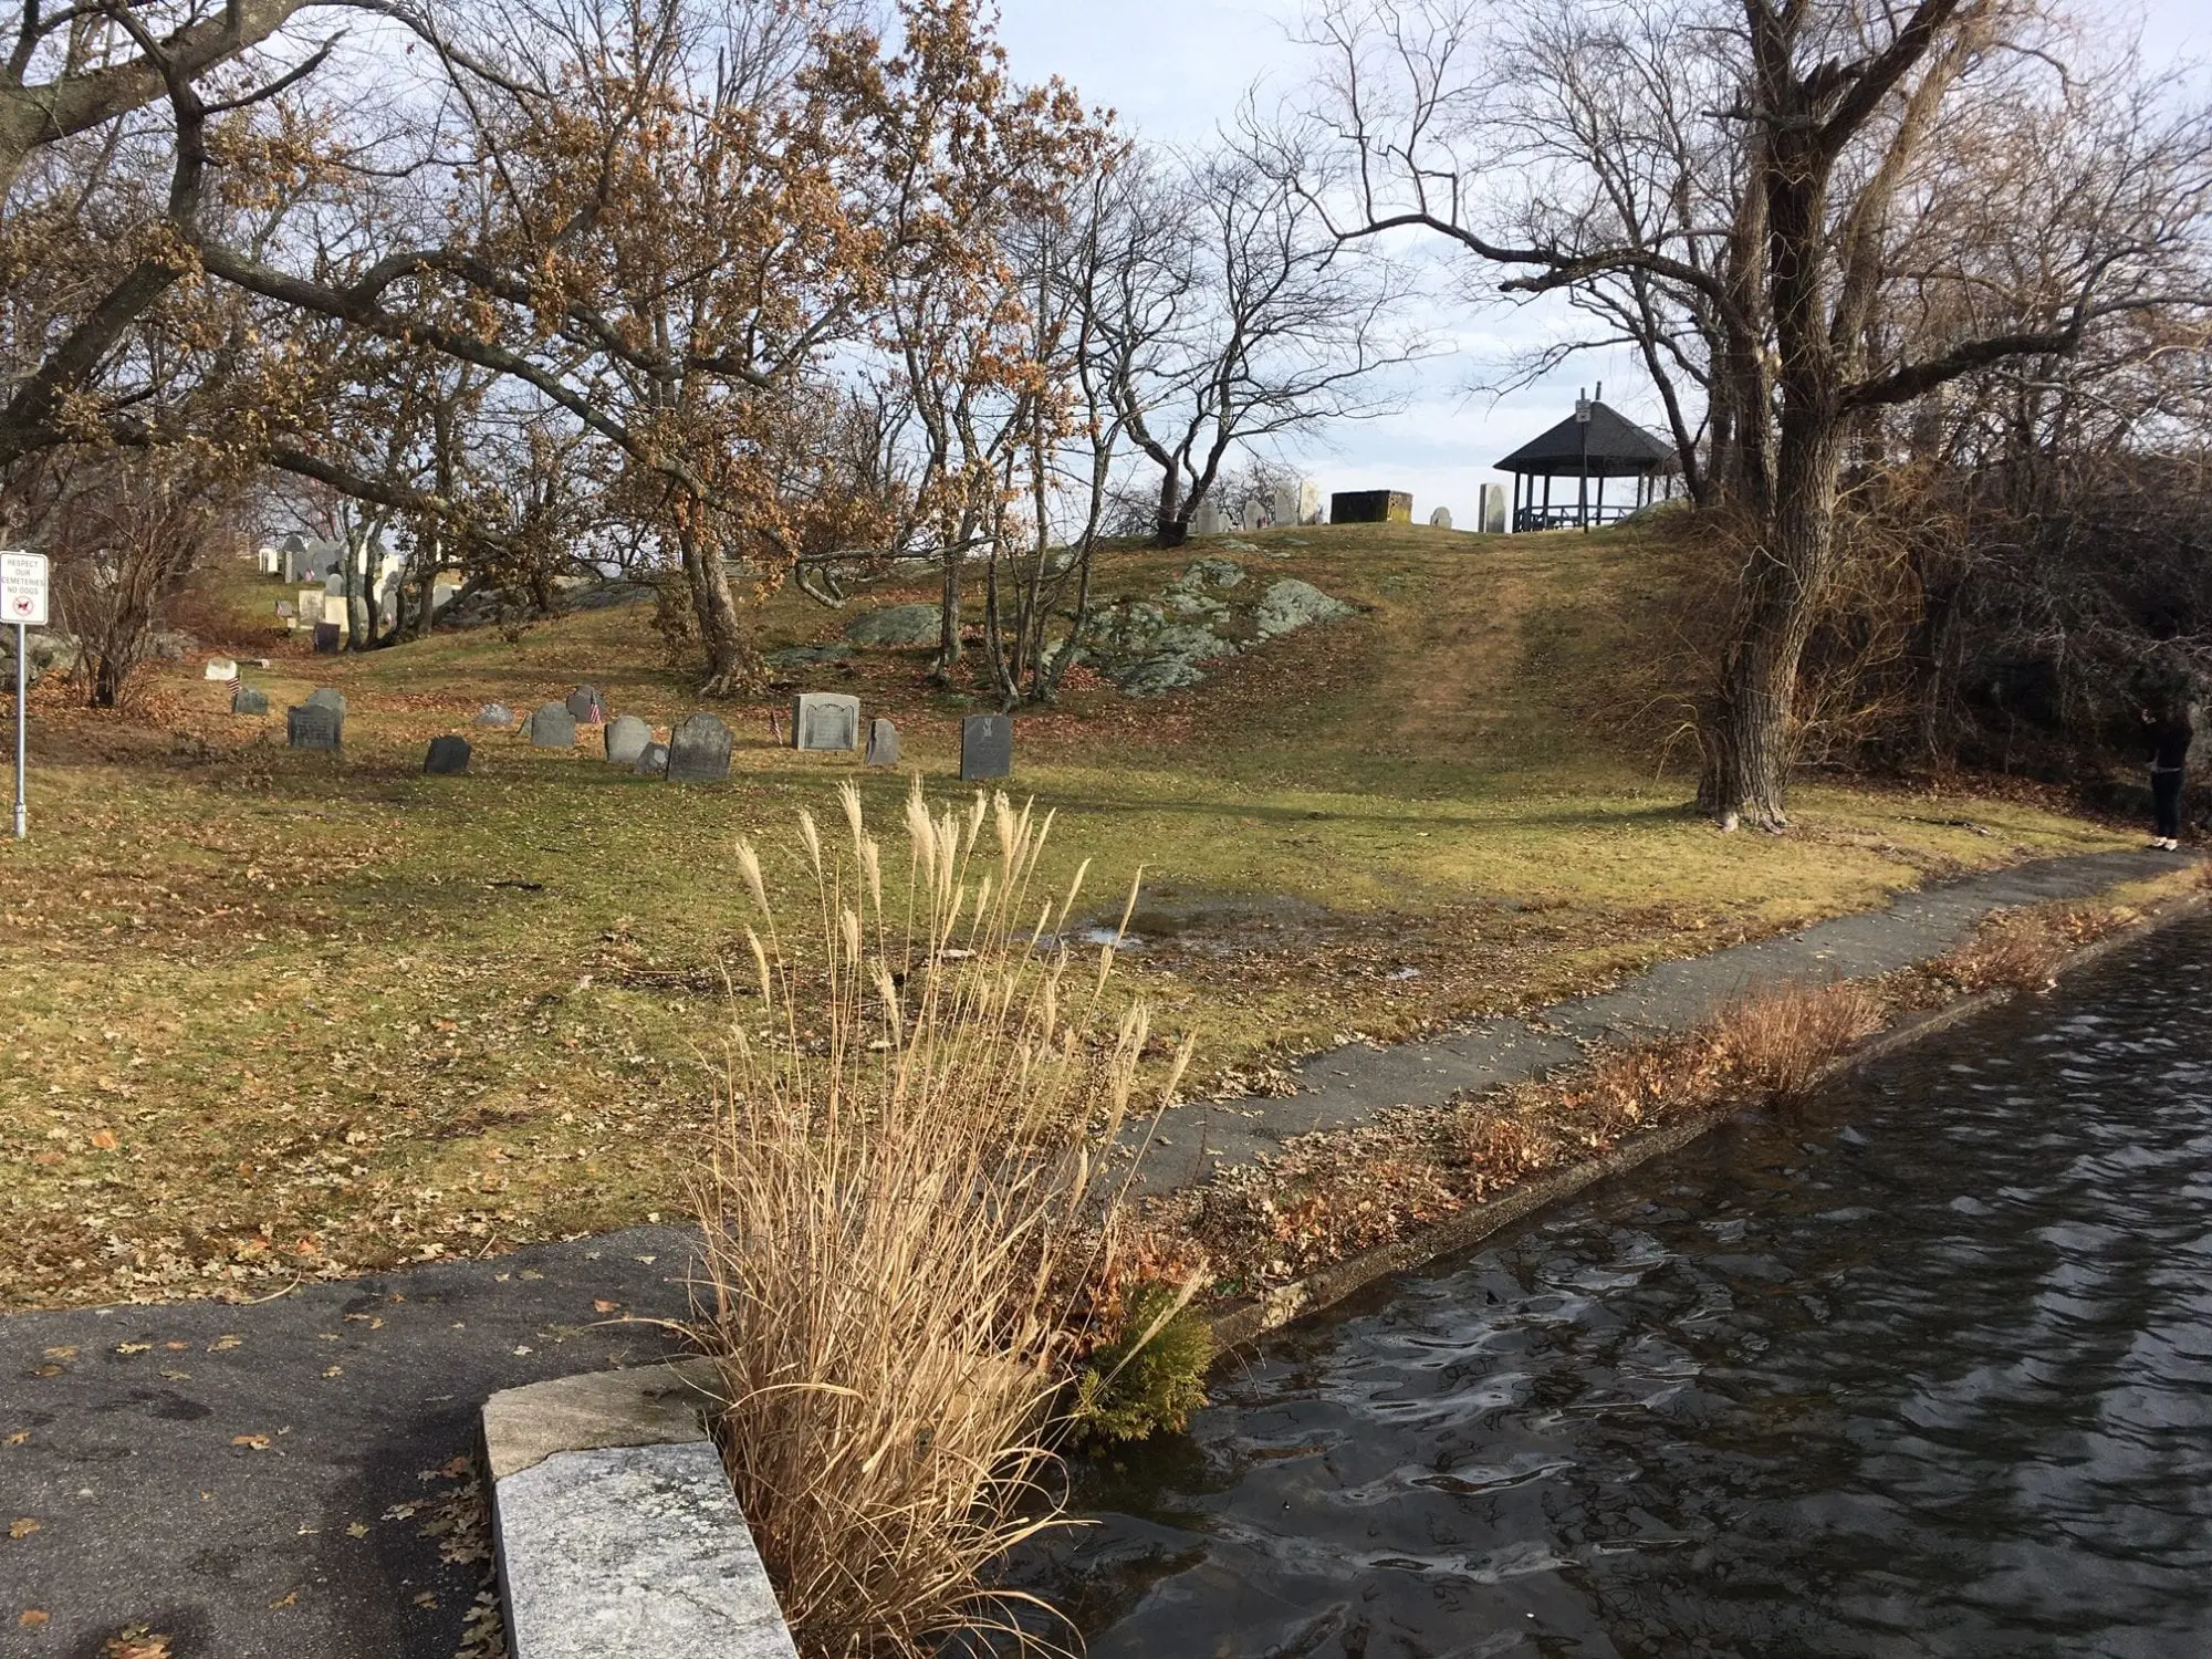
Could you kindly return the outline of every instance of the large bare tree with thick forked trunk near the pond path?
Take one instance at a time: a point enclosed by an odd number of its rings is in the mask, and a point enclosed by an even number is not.
[[[1710,42],[1697,58],[1710,102],[1639,93],[1641,104],[1613,100],[1604,119],[1577,128],[1571,115],[1506,111],[1478,91],[1471,55],[1489,42],[1471,7],[1340,0],[1318,18],[1329,64],[1321,104],[1270,153],[1345,239],[1433,232],[1504,268],[1509,294],[1579,294],[1615,312],[1650,283],[1692,321],[1712,471],[1743,515],[1745,549],[1701,719],[1701,801],[1725,827],[1781,830],[1798,666],[1838,568],[1854,438],[1880,409],[1991,363],[2066,356],[2115,319],[2203,305],[2172,270],[2201,237],[2212,190],[2205,122],[2132,104],[2137,122],[2106,133],[2121,139],[2119,155],[2084,157],[2095,164],[2086,188],[2046,170],[2048,195],[2070,197],[2055,243],[2033,246],[2048,215],[2035,232],[1991,219],[1986,241],[1936,241],[1916,230],[1971,155],[1940,139],[1958,137],[1947,122],[1984,88],[2015,115],[2044,106],[2095,124],[2097,111],[2073,104],[2068,77],[2051,69],[2057,42],[2033,35],[2031,13],[2006,0],[1896,11],[1692,0],[1683,20]],[[1655,106],[1701,108],[1705,135],[1679,144],[1652,131]],[[1708,175],[1624,197],[1635,170],[1619,164],[1630,153],[1621,139],[1639,133],[1661,170],[1701,161]],[[1666,210],[1650,210],[1659,201]],[[1971,296],[1955,327],[1891,325],[1936,288]],[[1663,319],[1632,323],[1655,345],[1666,338]]]

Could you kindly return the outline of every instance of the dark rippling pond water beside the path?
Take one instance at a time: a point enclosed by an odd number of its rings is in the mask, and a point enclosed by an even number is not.
[[[2212,927],[1214,1394],[1031,1564],[1093,1659],[2208,1655]]]

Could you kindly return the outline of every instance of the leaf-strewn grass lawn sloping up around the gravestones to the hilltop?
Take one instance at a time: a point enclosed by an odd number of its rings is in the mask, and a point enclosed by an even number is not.
[[[1652,531],[1478,538],[1409,526],[1259,533],[1254,577],[1305,577],[1352,622],[1287,635],[1159,701],[1075,688],[1018,719],[1015,792],[1093,860],[1097,916],[1144,867],[1124,962],[1201,1088],[1283,1060],[1548,1002],[1663,956],[1880,902],[1933,874],[2130,845],[2026,799],[1809,785],[1787,838],[1686,810],[1668,622],[1694,549]],[[1106,597],[1181,555],[1113,553]],[[650,608],[582,613],[358,659],[263,617],[288,588],[221,573],[199,628],[270,719],[232,719],[199,659],[131,717],[33,699],[33,838],[0,852],[0,1307],[268,1294],[294,1276],[489,1252],[684,1203],[730,1020],[752,834],[796,874],[792,816],[836,818],[854,759],[723,708],[728,785],[661,785],[476,732],[591,681],[668,726],[697,703]],[[931,597],[880,584],[856,604]],[[770,604],[770,646],[847,615]],[[226,637],[228,635],[228,637]],[[349,699],[343,754],[283,748],[283,706]],[[958,721],[925,653],[807,681],[900,726],[938,799]],[[462,779],[420,774],[469,730]],[[896,834],[905,776],[860,776]],[[889,838],[889,836],[887,836]]]

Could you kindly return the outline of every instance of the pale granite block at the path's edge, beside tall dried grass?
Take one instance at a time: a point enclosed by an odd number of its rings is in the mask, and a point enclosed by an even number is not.
[[[484,1400],[513,1659],[799,1659],[703,1411],[712,1360]]]

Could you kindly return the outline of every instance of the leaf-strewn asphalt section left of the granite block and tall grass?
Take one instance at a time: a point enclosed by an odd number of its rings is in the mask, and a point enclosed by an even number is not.
[[[144,1624],[175,1659],[495,1659],[465,1648],[489,1562],[442,1559],[487,1540],[478,1407],[661,1358],[619,1321],[681,1318],[690,1261],[639,1228],[250,1307],[0,1318],[0,1655],[106,1659]]]

